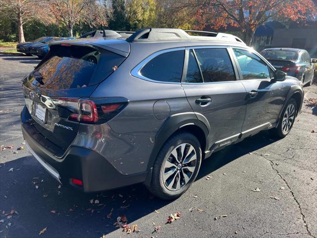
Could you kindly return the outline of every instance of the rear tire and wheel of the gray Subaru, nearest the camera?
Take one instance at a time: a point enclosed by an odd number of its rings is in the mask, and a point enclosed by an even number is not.
[[[202,150],[196,136],[188,132],[173,135],[159,151],[149,190],[165,200],[178,198],[195,181],[201,162]]]

